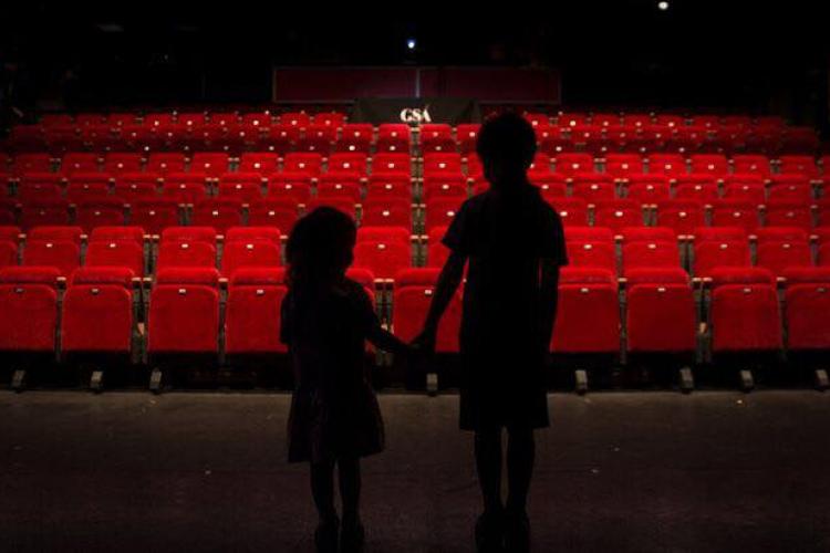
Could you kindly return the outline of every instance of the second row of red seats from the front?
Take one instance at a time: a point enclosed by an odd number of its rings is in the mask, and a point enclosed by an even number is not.
[[[681,268],[695,278],[709,278],[723,267],[757,267],[782,276],[787,270],[830,267],[830,228],[808,236],[802,229],[769,227],[748,236],[739,227],[703,227],[678,237],[671,228],[570,227],[566,239],[571,264],[603,269],[627,276],[642,268]],[[447,250],[440,244],[445,228],[414,237],[402,227],[362,227],[357,233],[357,268],[392,280],[418,264],[442,267]],[[224,237],[211,227],[170,227],[155,248],[136,227],[98,227],[84,240],[79,227],[38,227],[20,242],[19,229],[0,227],[0,267],[52,265],[69,276],[85,267],[121,265],[136,276],[170,267],[220,268],[231,276],[242,267],[280,267],[281,232],[273,227],[234,227]],[[21,251],[22,250],[22,251]]]

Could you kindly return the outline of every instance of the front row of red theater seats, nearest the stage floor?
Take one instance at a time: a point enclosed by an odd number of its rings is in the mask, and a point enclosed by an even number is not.
[[[391,322],[403,340],[418,332],[437,273],[437,269],[414,269],[397,275]],[[827,349],[830,270],[800,269],[787,276],[779,303],[776,281],[768,271],[717,270],[704,294],[706,305],[698,312],[695,291],[683,271],[641,269],[627,276],[621,310],[619,284],[610,272],[566,268],[552,351],[695,352],[701,323],[715,355],[777,352],[785,346],[789,352]],[[159,271],[148,300],[151,363],[158,355],[284,353],[279,343],[283,279],[280,269],[237,271],[228,283],[222,317],[216,269]],[[58,272],[51,268],[0,270],[0,307],[8,315],[0,319],[0,352],[55,352],[58,282]],[[133,293],[127,269],[75,271],[61,302],[62,352],[128,355],[136,335]],[[458,351],[459,313],[460,293],[439,326],[438,352]]]

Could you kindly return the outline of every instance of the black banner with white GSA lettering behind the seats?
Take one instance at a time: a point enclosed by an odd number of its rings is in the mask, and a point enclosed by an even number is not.
[[[349,117],[352,123],[479,123],[478,102],[469,98],[359,98]]]

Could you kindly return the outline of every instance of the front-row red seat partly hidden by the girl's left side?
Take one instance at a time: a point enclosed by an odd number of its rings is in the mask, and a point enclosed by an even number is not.
[[[278,268],[241,268],[228,284],[225,312],[225,352],[284,354],[280,342],[282,300],[288,292],[286,272]]]

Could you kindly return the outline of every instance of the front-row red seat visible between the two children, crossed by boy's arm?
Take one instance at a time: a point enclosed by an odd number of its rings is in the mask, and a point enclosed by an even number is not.
[[[407,269],[395,276],[392,327],[395,335],[408,342],[419,333],[435,292],[440,269]],[[458,353],[461,322],[461,292],[453,296],[438,324],[435,351]]]

